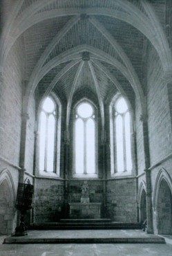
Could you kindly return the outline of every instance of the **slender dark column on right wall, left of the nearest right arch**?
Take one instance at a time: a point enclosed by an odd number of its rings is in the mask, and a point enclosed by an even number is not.
[[[145,163],[145,174],[146,174],[146,217],[147,217],[147,228],[148,234],[153,234],[153,208],[152,208],[152,188],[151,188],[151,171],[150,167],[150,154],[149,154],[149,131],[146,114],[141,116],[144,137],[144,163]]]

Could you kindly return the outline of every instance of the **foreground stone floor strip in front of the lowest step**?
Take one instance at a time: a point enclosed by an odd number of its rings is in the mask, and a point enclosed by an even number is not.
[[[3,244],[1,256],[171,256],[166,244]]]

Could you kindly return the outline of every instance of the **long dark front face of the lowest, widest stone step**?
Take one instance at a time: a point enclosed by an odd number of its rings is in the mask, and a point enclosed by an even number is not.
[[[7,237],[4,244],[165,244],[162,237],[84,237],[84,238],[32,238]]]

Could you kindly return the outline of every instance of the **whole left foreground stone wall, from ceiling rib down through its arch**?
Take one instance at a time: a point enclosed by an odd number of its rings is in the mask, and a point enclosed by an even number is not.
[[[15,201],[19,182],[22,104],[21,41],[10,50],[0,74],[0,202],[3,234],[10,234],[17,226]]]

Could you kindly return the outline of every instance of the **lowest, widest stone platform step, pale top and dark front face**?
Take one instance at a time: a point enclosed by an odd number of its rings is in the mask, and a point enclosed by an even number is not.
[[[162,237],[142,230],[28,230],[23,237],[6,237],[4,244],[165,244]]]

